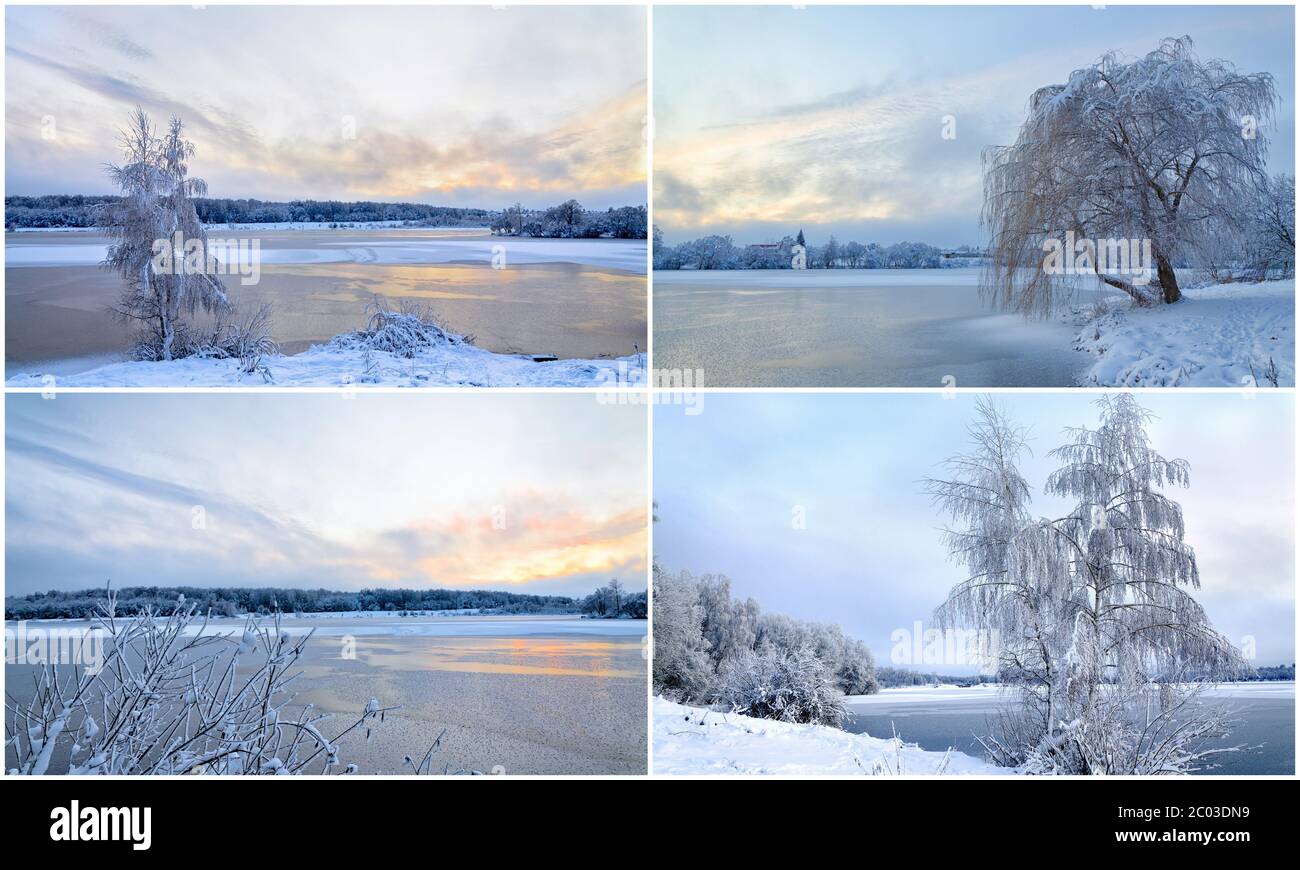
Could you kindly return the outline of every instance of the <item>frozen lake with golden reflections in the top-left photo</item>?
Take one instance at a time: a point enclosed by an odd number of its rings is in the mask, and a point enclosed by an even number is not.
[[[500,238],[481,230],[212,229],[257,238],[261,278],[225,278],[242,311],[273,306],[296,354],[364,324],[376,294],[428,303],[494,352],[595,359],[645,350],[644,241]],[[122,281],[98,267],[94,231],[5,234],[5,375],[69,375],[121,359],[127,328],[105,313]],[[500,246],[504,268],[491,268]]]

